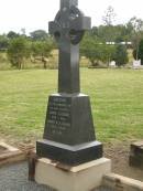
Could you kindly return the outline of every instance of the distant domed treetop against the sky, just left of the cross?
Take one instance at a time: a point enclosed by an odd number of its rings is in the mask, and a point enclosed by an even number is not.
[[[44,41],[48,38],[48,34],[44,30],[36,30],[30,33],[31,39],[34,41]]]

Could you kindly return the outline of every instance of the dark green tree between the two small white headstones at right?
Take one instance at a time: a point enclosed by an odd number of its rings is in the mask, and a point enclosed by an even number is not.
[[[122,44],[118,44],[116,47],[113,60],[116,61],[118,66],[124,65],[128,63],[128,52],[127,47]]]

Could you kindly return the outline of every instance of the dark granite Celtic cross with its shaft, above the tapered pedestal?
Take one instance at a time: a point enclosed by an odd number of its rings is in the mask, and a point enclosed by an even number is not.
[[[59,46],[58,93],[76,94],[79,86],[79,42],[90,29],[90,18],[77,8],[77,0],[61,0],[61,10],[48,30]]]

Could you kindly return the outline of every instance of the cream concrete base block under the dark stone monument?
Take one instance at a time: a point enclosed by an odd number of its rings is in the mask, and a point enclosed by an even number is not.
[[[77,167],[54,163],[48,159],[37,159],[35,181],[58,191],[90,191],[101,185],[103,174],[111,172],[111,161],[106,158]]]

